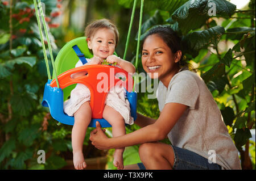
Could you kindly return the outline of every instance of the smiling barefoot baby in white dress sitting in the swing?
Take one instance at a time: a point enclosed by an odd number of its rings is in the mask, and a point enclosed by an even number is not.
[[[118,68],[133,74],[135,67],[131,62],[122,60],[113,55],[117,46],[119,35],[117,27],[107,19],[96,20],[90,23],[85,29],[88,48],[92,50],[93,57],[86,60],[84,65],[101,64],[104,60],[110,64],[116,64]],[[79,60],[76,67],[83,66]],[[85,75],[85,71],[72,74],[72,78]],[[64,112],[75,117],[72,129],[73,163],[75,169],[85,169],[86,163],[82,154],[82,144],[86,129],[92,119],[90,108],[90,90],[83,84],[78,83],[71,91],[71,98],[64,102]],[[112,125],[113,137],[125,134],[125,123],[133,124],[133,117],[130,115],[130,105],[125,99],[125,89],[115,86],[110,89],[105,100],[105,107],[102,114]],[[113,165],[117,169],[123,169],[123,151],[125,148],[115,149]]]

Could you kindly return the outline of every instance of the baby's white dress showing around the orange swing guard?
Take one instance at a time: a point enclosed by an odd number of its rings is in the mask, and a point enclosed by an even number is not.
[[[90,61],[88,58],[86,58],[86,60],[88,62]],[[82,65],[81,60],[79,60],[76,64],[76,68]],[[73,116],[74,113],[79,110],[80,106],[89,100],[90,90],[88,87],[77,83],[75,89],[71,91],[70,99],[64,102],[64,112],[69,116]],[[105,104],[118,111],[123,116],[126,124],[133,124],[134,120],[130,113],[130,103],[126,99],[126,91],[123,87],[112,87],[106,96]]]

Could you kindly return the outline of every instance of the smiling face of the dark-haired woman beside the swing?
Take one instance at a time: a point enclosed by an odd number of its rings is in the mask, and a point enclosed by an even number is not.
[[[150,78],[159,78],[161,81],[169,77],[172,71],[176,71],[176,62],[179,60],[174,57],[172,50],[156,34],[148,36],[143,43],[142,65]]]

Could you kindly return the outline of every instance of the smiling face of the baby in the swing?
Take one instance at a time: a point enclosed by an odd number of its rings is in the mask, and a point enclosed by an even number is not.
[[[88,40],[88,48],[92,49],[93,56],[106,59],[115,50],[115,33],[108,28],[101,28]]]

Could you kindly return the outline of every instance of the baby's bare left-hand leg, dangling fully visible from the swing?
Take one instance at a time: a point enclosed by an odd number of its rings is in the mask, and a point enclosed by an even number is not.
[[[92,117],[92,110],[89,102],[85,102],[81,105],[79,110],[74,114],[75,123],[72,129],[72,148],[73,148],[73,163],[75,169],[85,169],[86,163],[84,161],[84,155],[82,154],[82,144],[86,134],[86,129],[90,124]]]

